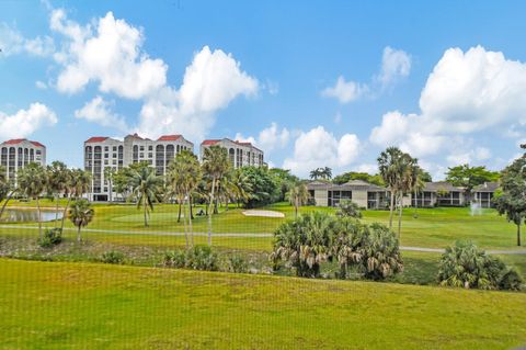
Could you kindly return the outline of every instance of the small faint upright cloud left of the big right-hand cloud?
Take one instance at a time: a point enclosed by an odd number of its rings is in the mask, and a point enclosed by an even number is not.
[[[408,77],[411,72],[411,56],[401,49],[389,46],[384,48],[381,70],[377,79],[382,89],[391,86],[398,79]]]

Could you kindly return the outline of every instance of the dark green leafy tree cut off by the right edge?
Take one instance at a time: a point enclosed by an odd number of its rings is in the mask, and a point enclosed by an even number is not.
[[[517,246],[521,246],[521,226],[526,218],[526,155],[502,171],[501,194],[495,205],[500,215],[506,215],[517,226]]]

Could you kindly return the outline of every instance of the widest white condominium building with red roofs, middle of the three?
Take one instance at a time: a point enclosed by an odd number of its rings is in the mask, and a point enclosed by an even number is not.
[[[128,135],[124,140],[111,137],[89,138],[84,142],[84,169],[92,174],[89,199],[91,201],[110,199],[110,182],[104,176],[106,168],[116,171],[132,163],[145,161],[156,168],[158,176],[164,176],[170,161],[184,149],[193,151],[194,144],[182,135],[164,135],[156,140],[137,134]],[[118,199],[117,195],[115,192],[112,193],[112,199]]]

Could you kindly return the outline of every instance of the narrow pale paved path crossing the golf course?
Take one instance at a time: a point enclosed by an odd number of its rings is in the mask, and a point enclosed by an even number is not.
[[[37,226],[22,226],[22,225],[0,225],[0,228],[15,228],[15,229],[38,229]],[[43,226],[43,228],[47,228]],[[77,232],[77,228],[66,227],[64,230],[71,230]],[[83,228],[83,233],[100,233],[100,234],[114,234],[114,235],[150,235],[150,236],[184,236],[184,233],[167,233],[167,232],[133,232],[133,230],[111,230],[111,229],[95,229],[95,228]],[[194,236],[203,236],[207,237],[207,233],[194,233]],[[231,238],[242,238],[242,237],[251,237],[251,238],[267,238],[272,237],[273,234],[239,234],[239,233],[221,233],[221,234],[213,234],[215,237],[231,237]],[[444,252],[445,249],[442,248],[425,248],[425,247],[408,247],[408,246],[400,246],[400,250],[404,251],[421,251],[421,252]],[[487,250],[489,253],[494,255],[510,255],[510,256],[526,256],[526,249],[517,249],[517,250],[499,250],[499,249],[489,249]]]

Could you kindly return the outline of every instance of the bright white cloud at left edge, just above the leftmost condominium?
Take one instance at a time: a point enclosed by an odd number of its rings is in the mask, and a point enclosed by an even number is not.
[[[0,138],[27,137],[41,127],[57,122],[55,112],[38,102],[11,115],[0,112]]]

